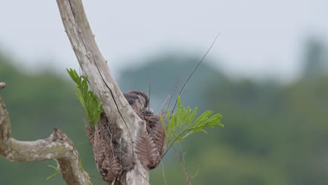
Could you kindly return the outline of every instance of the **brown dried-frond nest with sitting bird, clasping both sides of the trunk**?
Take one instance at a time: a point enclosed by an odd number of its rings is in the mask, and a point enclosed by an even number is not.
[[[146,132],[139,134],[135,153],[147,170],[154,169],[160,163],[165,151],[165,132],[160,116],[147,109],[149,99],[146,94],[132,90],[124,94],[132,109],[146,123]],[[111,184],[114,180],[125,184],[125,174],[135,165],[135,159],[128,155],[127,143],[121,138],[122,130],[111,123],[102,112],[95,132],[86,126],[93,156],[102,179]]]

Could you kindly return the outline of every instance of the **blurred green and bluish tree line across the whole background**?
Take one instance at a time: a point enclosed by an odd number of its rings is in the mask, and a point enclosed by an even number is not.
[[[221,113],[225,128],[198,133],[182,143],[192,184],[328,184],[328,50],[320,39],[309,39],[302,76],[287,85],[271,80],[231,79],[207,62],[182,95],[185,106]],[[160,106],[175,84],[182,87],[199,57],[160,55],[144,66],[126,69],[119,78],[123,92],[144,92],[151,84],[151,108]],[[68,76],[67,76],[68,77]],[[50,69],[26,74],[0,55],[1,90],[13,137],[34,140],[60,128],[73,140],[94,184],[100,180],[84,132],[84,112],[74,84]],[[151,81],[150,81],[151,80]],[[176,94],[179,91],[177,89]],[[174,102],[171,102],[171,107]],[[64,184],[60,176],[46,180],[53,161],[10,162],[0,158],[0,184]],[[174,153],[164,158],[168,184],[185,184]],[[164,184],[162,168],[151,171],[151,184]]]

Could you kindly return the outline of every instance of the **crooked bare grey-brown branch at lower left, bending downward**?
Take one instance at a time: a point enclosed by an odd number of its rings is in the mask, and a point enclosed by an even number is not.
[[[6,86],[0,83],[0,90]],[[91,184],[88,173],[84,172],[71,140],[62,131],[55,129],[47,139],[21,142],[11,138],[11,121],[6,105],[0,95],[0,155],[8,160],[32,162],[57,159],[58,169],[67,184]]]

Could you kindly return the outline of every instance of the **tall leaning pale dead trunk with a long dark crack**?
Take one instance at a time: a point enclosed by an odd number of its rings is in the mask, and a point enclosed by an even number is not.
[[[109,122],[121,129],[125,151],[134,160],[135,166],[126,173],[125,183],[149,184],[149,171],[141,165],[135,153],[138,136],[146,133],[146,124],[130,107],[112,78],[107,61],[95,42],[81,0],[57,0],[57,5],[83,74],[88,76],[90,88],[102,102]]]

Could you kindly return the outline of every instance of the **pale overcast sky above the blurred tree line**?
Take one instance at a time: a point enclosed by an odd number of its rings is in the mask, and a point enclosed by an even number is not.
[[[57,71],[78,64],[55,0],[0,0],[0,50],[20,65]],[[111,71],[161,51],[203,55],[241,76],[293,78],[306,36],[328,41],[327,0],[83,1]],[[215,60],[217,59],[217,60]]]

